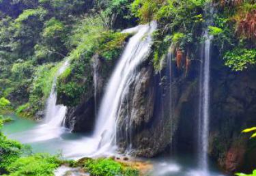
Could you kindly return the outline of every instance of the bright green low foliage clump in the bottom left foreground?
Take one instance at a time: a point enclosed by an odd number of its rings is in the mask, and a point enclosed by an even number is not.
[[[46,153],[37,153],[33,156],[21,157],[7,166],[10,176],[54,175],[54,170],[61,164],[58,156],[50,156]]]

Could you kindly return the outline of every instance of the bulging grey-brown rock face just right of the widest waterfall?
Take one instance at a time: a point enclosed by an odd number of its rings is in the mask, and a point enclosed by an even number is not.
[[[197,94],[193,94],[197,92],[197,81],[189,78],[186,81],[177,72],[171,82],[175,65],[170,70],[167,58],[163,62],[165,66],[158,74],[150,61],[141,64],[122,98],[117,115],[117,144],[122,151],[135,156],[153,157],[169,150],[175,145],[173,139],[177,134],[188,136],[181,132],[183,122],[188,122],[188,126],[195,123],[190,119],[195,117],[195,111],[187,110],[189,102],[197,104]]]

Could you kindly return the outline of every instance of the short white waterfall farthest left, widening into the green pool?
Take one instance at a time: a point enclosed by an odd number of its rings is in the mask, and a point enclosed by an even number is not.
[[[66,60],[57,71],[57,74],[53,79],[53,86],[51,89],[50,96],[46,102],[45,123],[51,127],[61,127],[66,115],[67,107],[63,105],[57,105],[56,82],[57,82],[57,77],[66,70],[68,65],[69,65],[69,60]]]

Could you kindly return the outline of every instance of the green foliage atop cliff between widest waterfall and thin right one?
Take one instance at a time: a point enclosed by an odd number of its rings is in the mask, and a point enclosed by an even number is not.
[[[199,39],[204,18],[206,18],[203,16],[204,0],[138,0],[134,1],[132,5],[134,6],[132,12],[141,21],[158,20],[158,30],[154,34],[154,54],[152,55],[156,72],[160,71],[160,60],[167,55],[171,44],[174,48],[184,51],[197,50],[197,46],[200,46]]]

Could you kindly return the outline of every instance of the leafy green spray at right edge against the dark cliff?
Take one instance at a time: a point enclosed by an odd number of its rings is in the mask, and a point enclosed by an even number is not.
[[[242,71],[256,63],[256,50],[235,48],[224,55],[225,65],[234,71]]]

